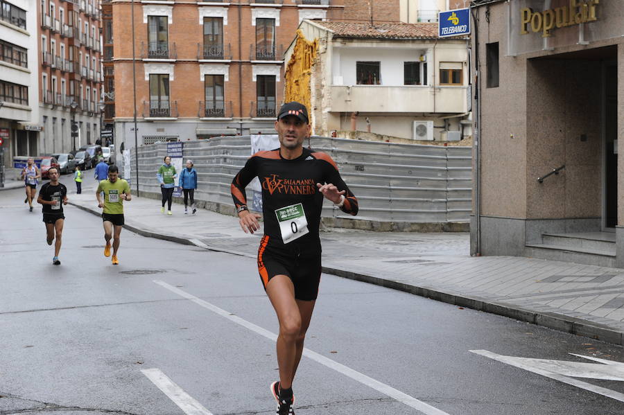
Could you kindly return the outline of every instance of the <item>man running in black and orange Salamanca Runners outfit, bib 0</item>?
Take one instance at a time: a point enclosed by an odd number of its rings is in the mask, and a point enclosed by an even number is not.
[[[308,112],[300,103],[284,104],[275,130],[279,149],[248,159],[232,181],[232,197],[245,233],[260,229],[260,215],[250,213],[245,186],[254,177],[262,184],[264,236],[258,268],[264,289],[279,321],[279,381],[270,390],[277,414],[294,414],[293,378],[301,359],[306,330],[318,295],[321,245],[318,235],[323,197],[343,212],[356,215],[358,200],[323,152],[303,148],[311,134]]]

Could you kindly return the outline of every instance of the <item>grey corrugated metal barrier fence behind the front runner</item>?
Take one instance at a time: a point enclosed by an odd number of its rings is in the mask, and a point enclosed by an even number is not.
[[[356,141],[313,136],[314,150],[336,161],[359,201],[354,219],[378,222],[469,222],[471,148]],[[139,191],[160,195],[156,171],[166,143],[139,148]],[[196,200],[214,211],[233,213],[230,184],[251,155],[250,136],[184,142],[184,160],[198,172]],[[132,179],[135,159],[132,154]],[[135,189],[133,184],[132,188]],[[252,191],[248,188],[248,200]],[[352,218],[325,200],[324,218]]]

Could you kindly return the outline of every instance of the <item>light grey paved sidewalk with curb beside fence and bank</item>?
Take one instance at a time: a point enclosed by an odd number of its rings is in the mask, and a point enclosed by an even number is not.
[[[96,215],[95,188],[69,203]],[[204,209],[160,213],[158,200],[133,196],[125,227],[143,236],[255,258],[260,236],[233,216]],[[321,233],[323,271],[624,345],[624,270],[514,256],[471,257],[467,233],[331,229]]]

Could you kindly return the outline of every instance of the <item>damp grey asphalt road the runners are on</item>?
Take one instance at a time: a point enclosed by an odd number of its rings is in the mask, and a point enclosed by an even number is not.
[[[57,267],[23,194],[0,192],[0,415],[275,413],[277,321],[253,259],[124,230],[115,267],[101,219],[67,206]],[[306,348],[297,414],[624,413],[624,365],[570,354],[622,348],[336,276]],[[579,364],[552,378],[474,351]]]

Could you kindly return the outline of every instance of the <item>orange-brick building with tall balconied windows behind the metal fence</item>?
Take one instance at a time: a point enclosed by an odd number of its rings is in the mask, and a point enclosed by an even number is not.
[[[283,55],[302,19],[339,19],[343,1],[163,4],[114,2],[115,142],[134,145],[132,26],[138,143],[273,132]],[[108,46],[105,46],[108,47]],[[108,59],[108,56],[105,55]],[[107,118],[108,119],[108,118]]]

